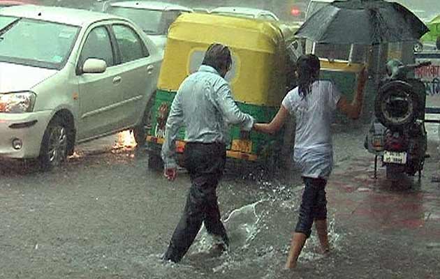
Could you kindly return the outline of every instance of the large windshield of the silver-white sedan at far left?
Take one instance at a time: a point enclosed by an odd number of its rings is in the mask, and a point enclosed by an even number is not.
[[[0,16],[0,61],[61,69],[79,27]]]

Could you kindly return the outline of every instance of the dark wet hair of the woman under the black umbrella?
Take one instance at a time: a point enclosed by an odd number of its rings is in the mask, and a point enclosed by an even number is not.
[[[319,78],[321,63],[318,56],[306,54],[300,56],[296,62],[298,73],[298,93],[302,98],[306,98],[311,91],[311,84]]]

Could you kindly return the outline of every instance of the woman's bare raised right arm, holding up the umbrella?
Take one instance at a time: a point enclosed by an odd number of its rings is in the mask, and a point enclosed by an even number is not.
[[[367,79],[367,71],[364,68],[359,74],[358,88],[354,94],[353,101],[349,103],[349,101],[342,96],[337,103],[337,108],[351,119],[358,119],[360,116],[360,112],[362,111],[362,103],[364,100],[364,88]]]

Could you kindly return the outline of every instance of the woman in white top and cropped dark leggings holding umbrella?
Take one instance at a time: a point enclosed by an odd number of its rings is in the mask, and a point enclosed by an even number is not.
[[[327,199],[325,185],[332,172],[333,149],[330,124],[332,114],[339,109],[351,119],[358,119],[362,110],[363,91],[367,74],[362,70],[352,103],[330,81],[319,80],[321,64],[317,56],[300,56],[297,62],[298,87],[288,92],[279,112],[270,123],[256,123],[254,129],[262,133],[276,133],[288,114],[296,120],[295,163],[300,166],[305,190],[302,194],[300,216],[293,234],[286,262],[293,269],[302,247],[315,223],[323,252],[329,252],[327,234]]]

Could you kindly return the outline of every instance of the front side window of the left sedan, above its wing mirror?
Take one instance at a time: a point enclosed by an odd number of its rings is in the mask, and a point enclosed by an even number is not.
[[[80,65],[82,66],[89,58],[102,59],[108,67],[115,65],[110,34],[105,27],[96,27],[87,35],[84,47],[82,47]]]

